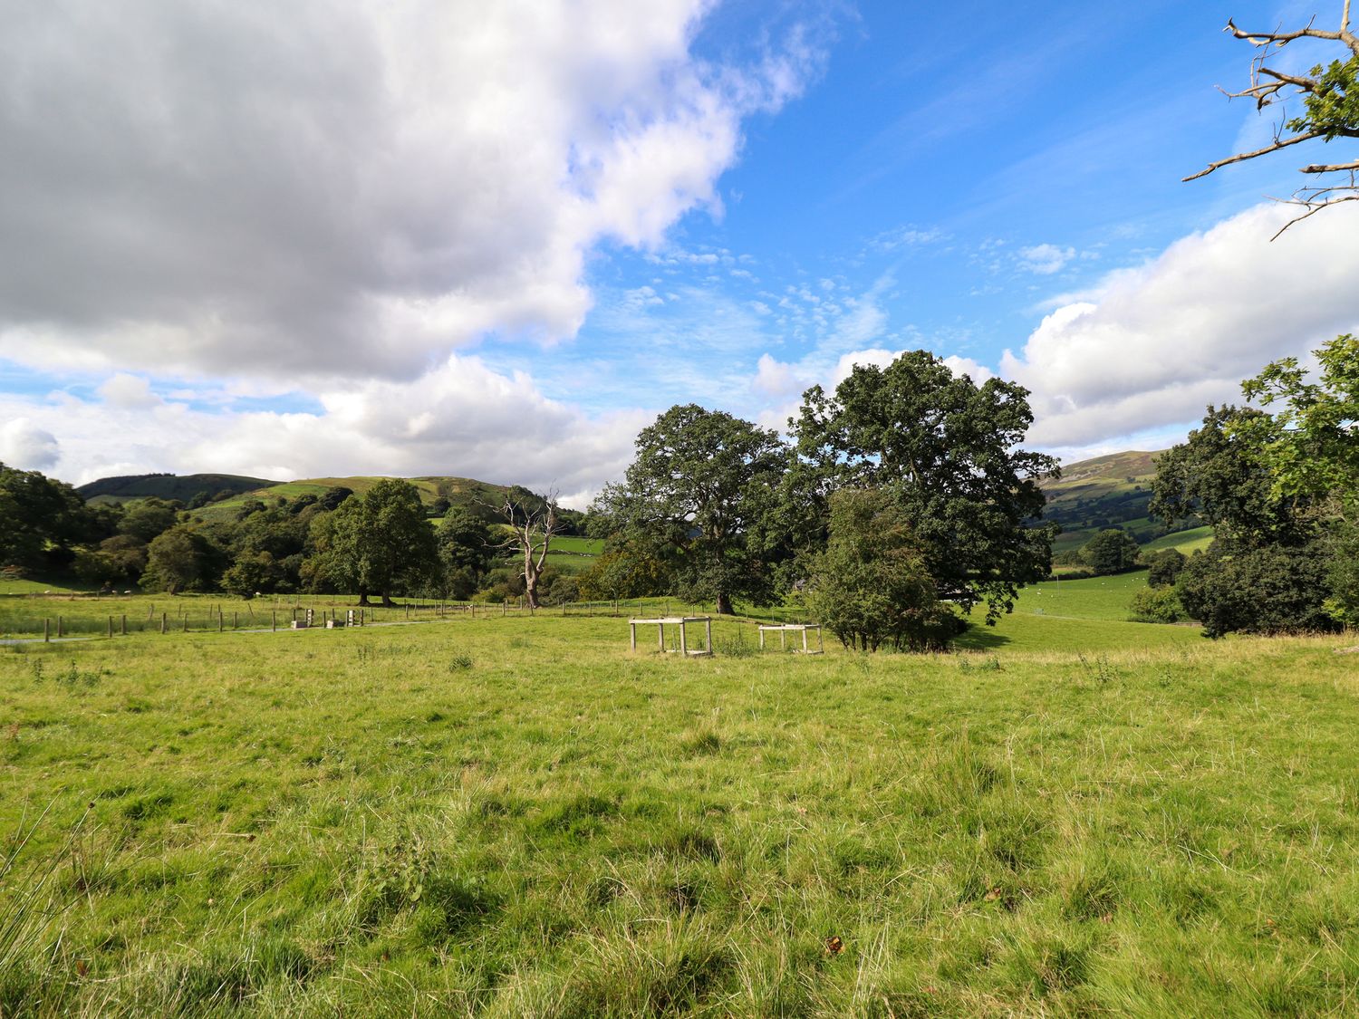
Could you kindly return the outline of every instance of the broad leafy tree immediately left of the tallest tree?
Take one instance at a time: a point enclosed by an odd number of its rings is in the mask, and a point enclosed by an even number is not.
[[[606,489],[598,511],[665,561],[682,595],[715,602],[719,614],[737,596],[772,599],[765,518],[787,463],[777,433],[688,404],[644,428],[636,448],[625,484]]]

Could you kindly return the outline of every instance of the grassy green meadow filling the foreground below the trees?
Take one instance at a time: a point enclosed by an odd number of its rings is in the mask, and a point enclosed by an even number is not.
[[[1098,594],[0,648],[0,1014],[1354,1014],[1354,636]]]

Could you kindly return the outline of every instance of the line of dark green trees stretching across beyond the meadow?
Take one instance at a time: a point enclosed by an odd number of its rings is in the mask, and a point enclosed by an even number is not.
[[[1309,379],[1296,361],[1245,383],[1256,406],[1208,408],[1157,463],[1151,511],[1207,523],[1204,553],[1137,554],[1116,530],[1083,561],[1150,567],[1146,618],[1204,632],[1336,629],[1359,621],[1359,342],[1337,337]],[[1265,409],[1272,408],[1272,410]],[[622,599],[674,595],[733,611],[796,599],[847,645],[946,647],[973,609],[995,624],[1052,569],[1033,416],[1011,382],[973,382],[925,351],[856,365],[803,394],[786,436],[673,406],[636,439],[622,481],[584,514],[522,488],[499,505],[425,507],[405,481],[246,501],[207,520],[174,501],[91,505],[0,465],[0,564],[107,587]],[[431,516],[431,510],[434,516]],[[440,511],[442,515],[440,515]],[[578,576],[548,562],[564,533],[605,541]]]

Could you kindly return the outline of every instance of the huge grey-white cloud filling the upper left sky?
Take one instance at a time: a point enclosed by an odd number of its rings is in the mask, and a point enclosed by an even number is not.
[[[45,370],[414,379],[572,336],[817,61],[697,60],[708,0],[5,4],[0,349]]]

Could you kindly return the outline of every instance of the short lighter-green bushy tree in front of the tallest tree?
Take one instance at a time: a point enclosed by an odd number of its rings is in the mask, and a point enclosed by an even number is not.
[[[905,511],[878,489],[830,499],[830,537],[811,564],[807,603],[847,648],[936,651],[961,620],[935,596]]]

